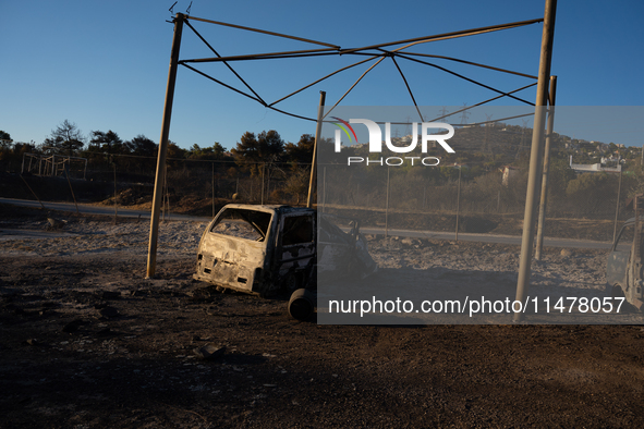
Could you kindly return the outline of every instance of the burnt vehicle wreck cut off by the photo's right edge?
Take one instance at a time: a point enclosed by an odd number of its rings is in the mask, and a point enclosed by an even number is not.
[[[637,204],[644,205],[644,197],[637,195],[627,203],[635,217],[622,225],[608,255],[606,281],[608,293],[623,296],[627,302],[643,311],[644,305],[644,213]],[[644,207],[644,206],[643,206]]]

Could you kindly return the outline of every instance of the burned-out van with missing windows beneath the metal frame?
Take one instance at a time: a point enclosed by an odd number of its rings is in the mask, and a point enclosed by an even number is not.
[[[357,220],[311,208],[231,204],[204,231],[193,277],[268,297],[315,291],[317,275],[366,277],[376,268]]]

